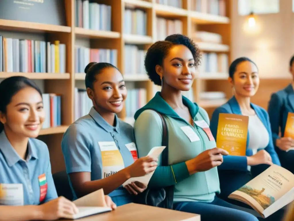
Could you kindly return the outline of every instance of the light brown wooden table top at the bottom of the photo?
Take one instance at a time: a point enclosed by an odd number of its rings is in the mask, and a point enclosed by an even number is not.
[[[78,221],[200,221],[200,215],[160,207],[129,203],[116,210],[78,219]],[[68,220],[69,221],[69,220]]]

